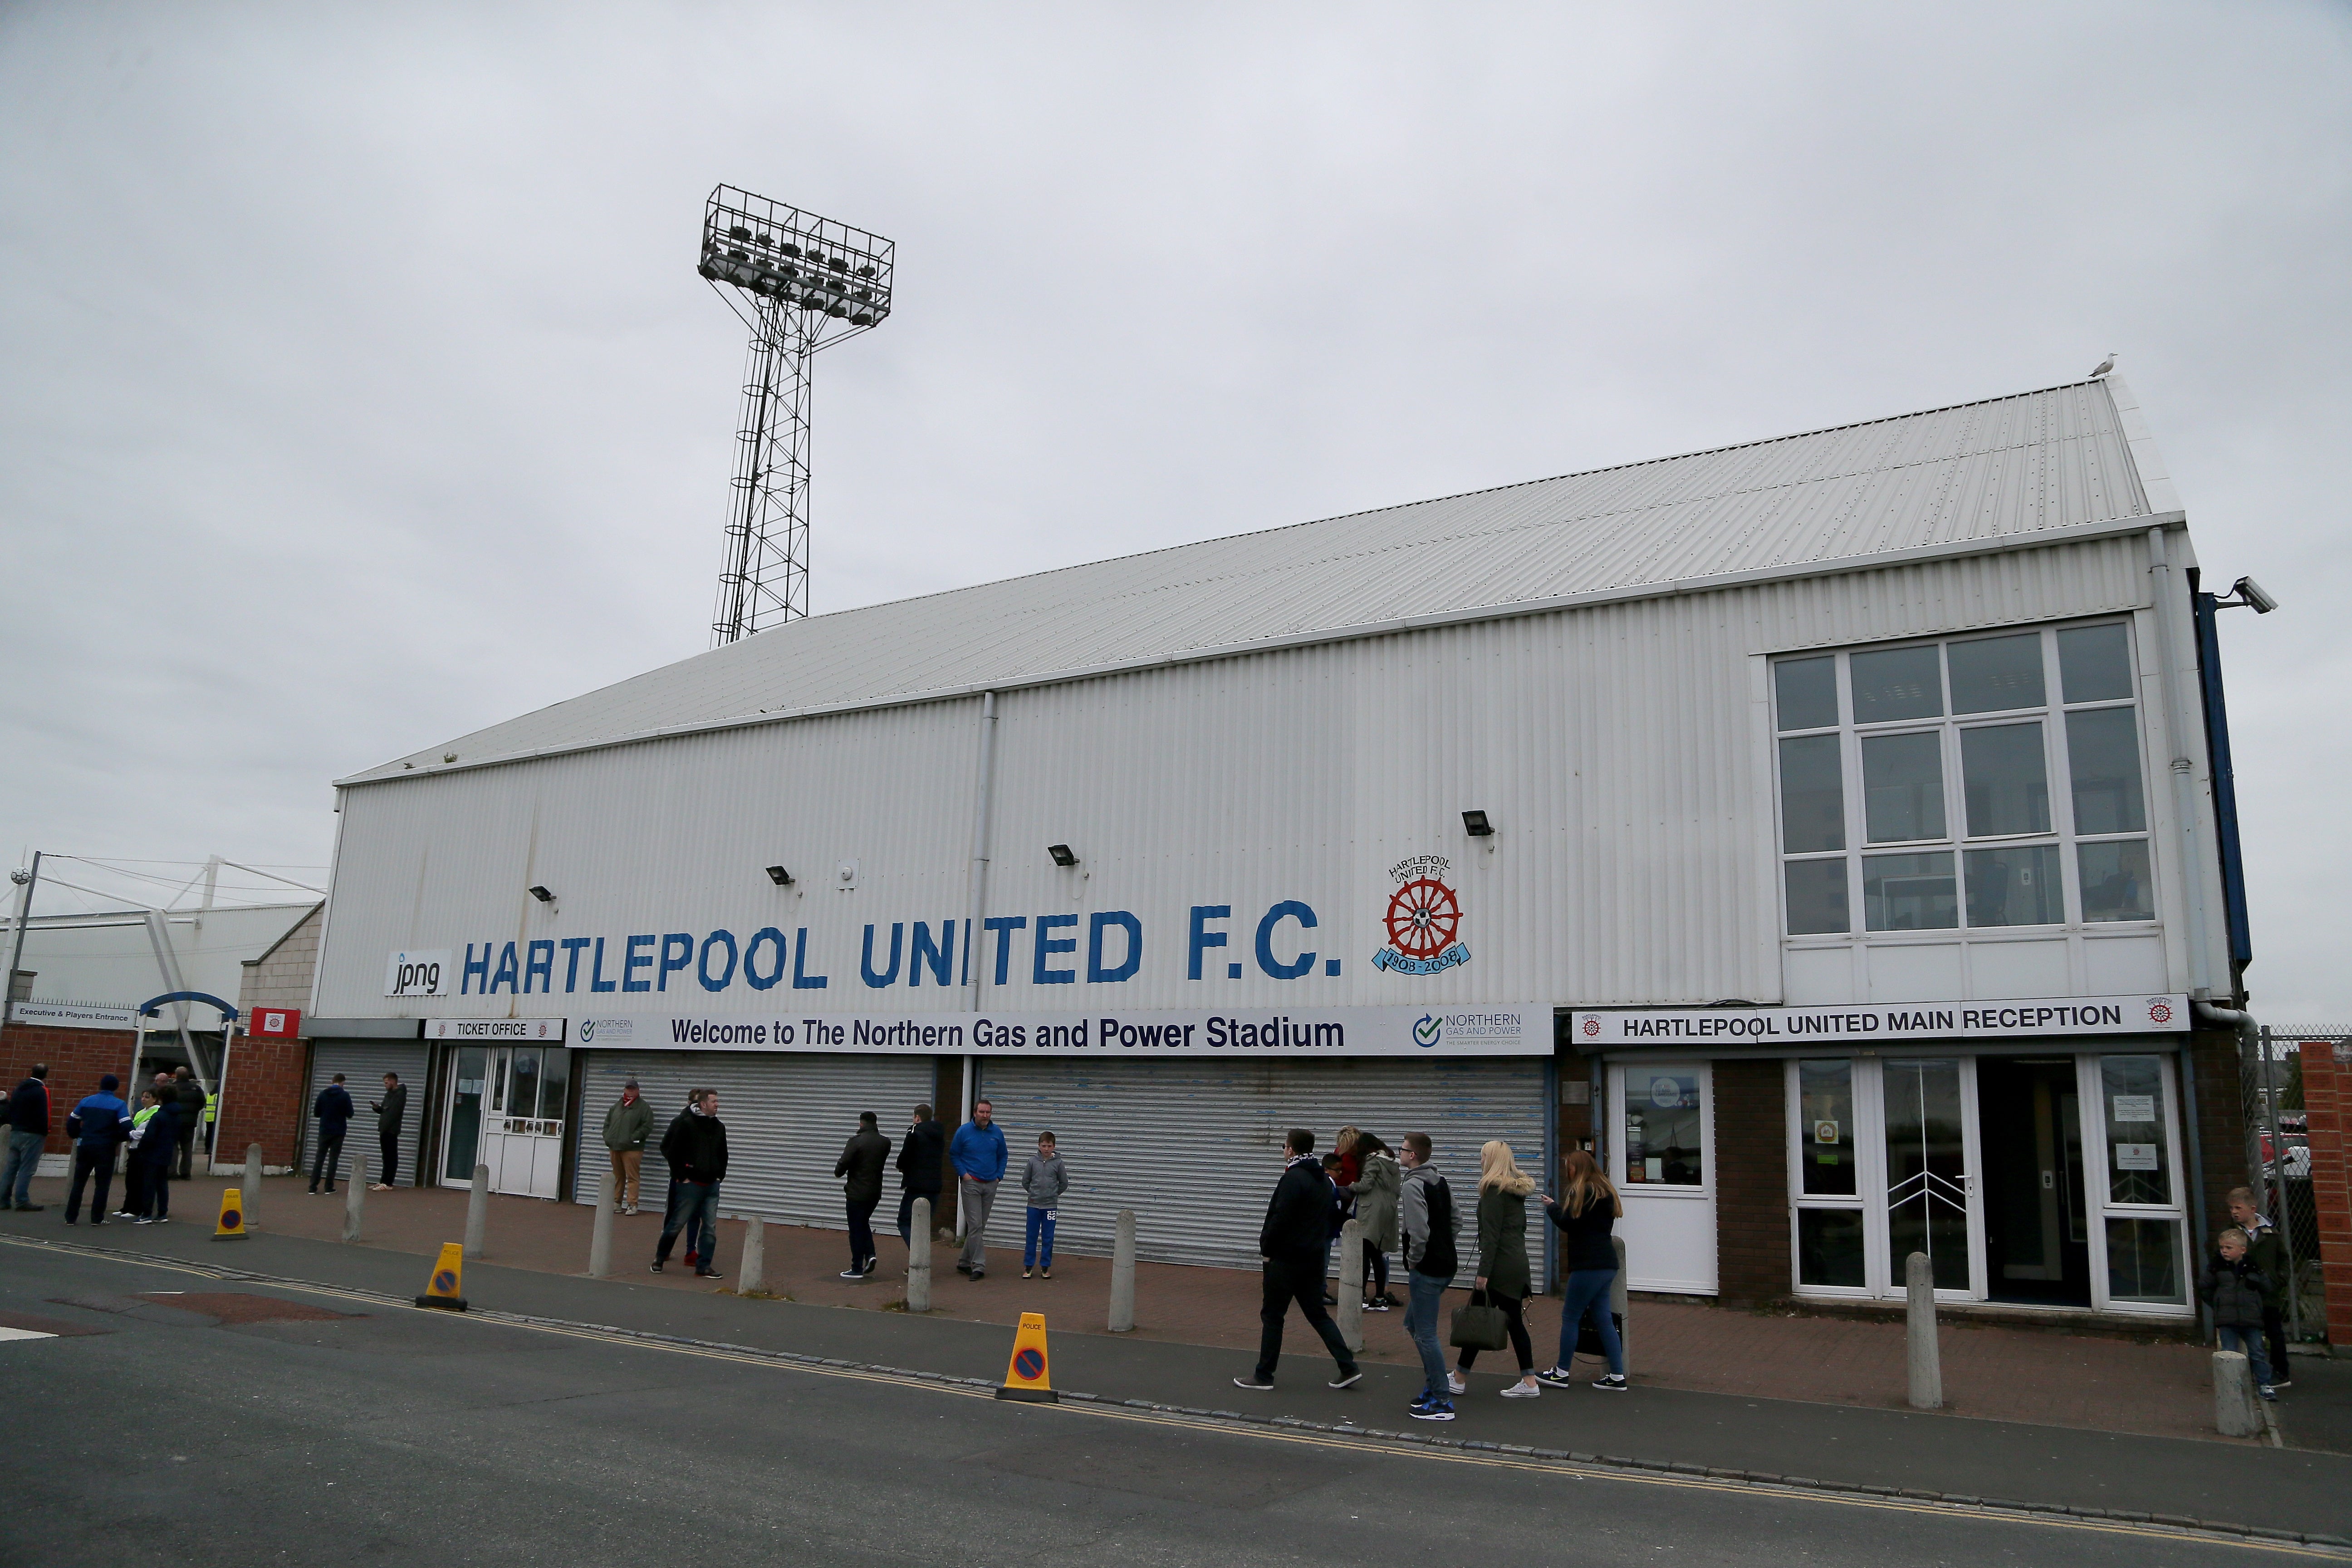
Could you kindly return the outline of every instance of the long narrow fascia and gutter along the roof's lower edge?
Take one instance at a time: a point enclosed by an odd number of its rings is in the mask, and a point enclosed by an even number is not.
[[[1922,562],[1945,562],[1966,559],[1971,555],[2006,555],[2011,550],[2042,550],[2049,545],[2072,545],[2093,538],[2117,538],[2124,534],[2145,534],[2147,529],[2171,529],[2183,527],[2187,517],[2178,510],[2152,512],[2140,517],[2117,517],[2112,522],[2077,522],[2060,529],[2034,529],[2032,534],[2002,534],[1999,538],[1964,538],[1943,545],[1912,545],[1907,550],[1879,550],[1875,555],[1844,555],[1832,562],[1797,562],[1788,567],[1757,567],[1752,571],[1719,571],[1712,576],[1679,578],[1672,583],[1632,583],[1625,588],[1595,588],[1588,592],[1564,592],[1548,599],[1517,599],[1510,604],[1475,604],[1468,609],[1432,611],[1428,616],[1402,616],[1397,621],[1364,621],[1357,625],[1334,625],[1312,632],[1287,632],[1282,637],[1258,637],[1251,642],[1223,642],[1204,649],[1178,649],[1174,654],[1152,654],[1150,658],[1129,658],[1103,665],[1084,665],[1073,670],[1040,670],[1033,675],[1011,675],[990,682],[964,682],[957,686],[934,686],[929,691],[894,691],[884,696],[854,698],[847,703],[816,703],[809,708],[776,708],[769,712],[746,712],[727,719],[696,719],[694,724],[663,724],[659,729],[640,729],[626,736],[600,736],[595,741],[572,741],[567,745],[534,745],[513,752],[494,752],[489,757],[463,757],[459,762],[428,762],[421,769],[383,771],[369,769],[367,773],[353,773],[348,778],[336,778],[336,790],[355,790],[362,785],[402,783],[409,778],[440,778],[445,773],[466,773],[473,769],[496,769],[513,762],[539,762],[541,757],[572,757],[579,752],[602,752],[616,745],[644,745],[649,741],[673,741],[677,736],[708,736],[724,729],[750,729],[755,724],[790,724],[793,719],[823,719],[842,712],[875,712],[882,708],[917,708],[922,703],[953,703],[964,698],[976,698],[988,691],[1025,691],[1033,686],[1065,686],[1082,679],[1101,679],[1105,675],[1134,675],[1138,670],[1174,670],[1178,665],[1200,665],[1218,658],[1247,658],[1251,654],[1272,654],[1282,649],[1305,649],[1331,642],[1362,642],[1369,637],[1395,637],[1397,632],[1425,632],[1442,625],[1472,625],[1479,621],[1515,621],[1519,616],[1548,616],[1562,609],[1590,609],[1599,604],[1632,604],[1639,599],[1682,599],[1703,592],[1724,592],[1729,588],[1752,588],[1759,583],[1785,583],[1792,578],[1809,576],[1846,576],[1853,571],[1882,571],[1886,567],[1915,567]]]

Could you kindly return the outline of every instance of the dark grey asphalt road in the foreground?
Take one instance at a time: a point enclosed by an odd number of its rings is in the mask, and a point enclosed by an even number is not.
[[[14,1413],[0,1441],[5,1563],[2150,1568],[2321,1556],[1000,1403],[849,1368],[221,1284],[165,1262],[7,1248],[0,1269],[7,1321],[64,1331],[0,1340]],[[270,1321],[289,1309],[348,1316]]]

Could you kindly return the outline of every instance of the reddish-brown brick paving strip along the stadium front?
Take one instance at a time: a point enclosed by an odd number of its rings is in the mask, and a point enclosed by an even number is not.
[[[209,1232],[219,1192],[226,1185],[221,1178],[174,1182],[172,1211],[176,1218],[172,1229],[186,1225]],[[49,1204],[47,1213],[0,1215],[0,1220],[9,1222],[9,1229],[31,1234],[87,1237],[87,1232],[61,1225],[61,1180],[35,1180],[33,1197]],[[343,1225],[343,1194],[306,1197],[299,1178],[268,1178],[252,1213],[252,1222],[263,1232],[336,1241]],[[115,1220],[113,1225],[127,1222]],[[1143,1225],[1148,1227],[1150,1218],[1143,1218]],[[485,1262],[583,1274],[590,1227],[593,1211],[579,1204],[492,1197]],[[456,1241],[463,1232],[463,1190],[397,1187],[367,1194],[362,1237],[367,1248],[430,1258],[445,1241]],[[1011,1232],[1009,1225],[1007,1232]],[[616,1218],[614,1279],[689,1293],[713,1291],[710,1281],[684,1269],[682,1255],[673,1258],[663,1274],[647,1267],[659,1234],[659,1211]],[[743,1225],[722,1222],[722,1237],[720,1267],[729,1279],[720,1288],[731,1291],[743,1248]],[[122,1229],[101,1229],[87,1239],[125,1246],[129,1237]],[[953,1248],[938,1246],[934,1258],[934,1316],[1011,1326],[1023,1312],[1044,1312],[1054,1333],[1105,1333],[1108,1258],[1063,1255],[1056,1260],[1054,1279],[1023,1281],[1018,1244],[990,1248],[988,1279],[981,1284],[955,1274]],[[906,1251],[896,1234],[882,1239],[882,1269],[870,1281],[837,1279],[847,1262],[847,1232],[797,1225],[767,1227],[769,1291],[826,1307],[882,1309],[903,1302]],[[419,1265],[416,1279],[421,1288],[423,1265]],[[1449,1307],[1458,1300],[1465,1295],[1454,1293]],[[1550,1352],[1559,1342],[1557,1300],[1536,1298],[1529,1302],[1529,1333],[1536,1340],[1538,1363],[1550,1361]],[[1138,1265],[1136,1331],[1120,1338],[1254,1352],[1258,1345],[1258,1279],[1237,1269]],[[1757,1314],[1698,1302],[1635,1302],[1628,1340],[1637,1385],[1879,1410],[1905,1406],[1903,1326],[1893,1321]],[[1955,1415],[2230,1441],[2213,1432],[2209,1352],[2194,1345],[2143,1345],[2049,1328],[1976,1324],[1945,1324],[1940,1342],[1945,1399]],[[1322,1347],[1294,1316],[1284,1354],[1296,1359],[1310,1352],[1319,1356]],[[1418,1363],[1404,1338],[1402,1312],[1364,1316],[1364,1361]],[[1508,1366],[1508,1352],[1482,1356],[1475,1389],[1484,1392],[1505,1382],[1489,1375],[1496,1366]],[[1585,1366],[1599,1371],[1595,1363]],[[2293,1427],[2293,1403],[2286,1406],[2286,1415],[2288,1427]]]

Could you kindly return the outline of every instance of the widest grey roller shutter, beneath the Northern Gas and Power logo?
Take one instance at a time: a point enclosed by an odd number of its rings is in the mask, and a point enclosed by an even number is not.
[[[1044,1063],[990,1060],[993,1103],[1011,1161],[988,1227],[990,1248],[1021,1248],[1021,1164],[1051,1131],[1070,1166],[1054,1246],[1110,1253],[1122,1208],[1136,1211],[1136,1255],[1152,1262],[1256,1267],[1265,1201],[1282,1180],[1282,1140],[1315,1131],[1317,1154],[1341,1126],[1395,1147],[1428,1133],[1454,1187],[1461,1276],[1477,1274],[1479,1147],[1501,1138],[1543,1185],[1543,1067],[1486,1063]],[[1336,1253],[1334,1253],[1336,1255]],[[1529,1267],[1543,1272],[1543,1208],[1529,1204]],[[1000,1260],[1002,1267],[1004,1260]],[[1395,1279],[1395,1262],[1390,1262]],[[1392,1286],[1402,1295],[1402,1284]]]

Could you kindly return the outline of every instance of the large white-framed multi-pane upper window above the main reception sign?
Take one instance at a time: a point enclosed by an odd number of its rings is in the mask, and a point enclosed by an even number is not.
[[[1790,936],[2154,919],[2131,628],[1773,661]]]

